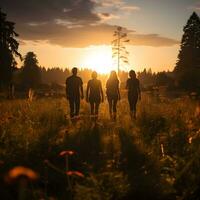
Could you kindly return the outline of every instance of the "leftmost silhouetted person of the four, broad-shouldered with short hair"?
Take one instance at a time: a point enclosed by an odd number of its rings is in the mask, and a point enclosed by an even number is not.
[[[70,117],[79,115],[80,98],[83,99],[83,81],[77,76],[78,69],[72,69],[72,75],[66,80],[66,95],[70,105]]]

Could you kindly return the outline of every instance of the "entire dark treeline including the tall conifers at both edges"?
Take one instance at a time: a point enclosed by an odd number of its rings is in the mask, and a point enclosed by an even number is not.
[[[18,52],[19,36],[15,32],[15,23],[7,21],[7,16],[0,10],[0,91],[13,92],[16,87],[20,91],[29,88],[63,88],[65,79],[70,75],[69,69],[58,67],[47,69],[40,67],[34,52],[28,52],[23,58],[23,65],[17,68],[15,58],[22,60]],[[155,86],[165,86],[168,89],[194,91],[200,93],[200,18],[193,13],[183,29],[180,51],[176,66],[172,72],[153,73],[151,70],[138,72],[138,78],[143,89]],[[156,58],[155,58],[156,59]],[[80,69],[79,75],[86,83],[91,77],[91,70]],[[121,72],[119,78],[122,87],[128,77],[127,72]],[[105,83],[107,75],[99,75]]]

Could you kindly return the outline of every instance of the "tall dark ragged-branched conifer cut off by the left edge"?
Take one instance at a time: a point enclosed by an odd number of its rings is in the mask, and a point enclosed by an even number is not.
[[[15,23],[7,21],[0,9],[0,87],[10,84],[16,66],[15,56],[21,58],[16,37]]]

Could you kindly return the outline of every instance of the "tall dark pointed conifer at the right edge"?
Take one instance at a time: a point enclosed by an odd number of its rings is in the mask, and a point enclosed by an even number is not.
[[[174,72],[180,87],[194,90],[200,87],[200,18],[195,12],[183,31]]]

